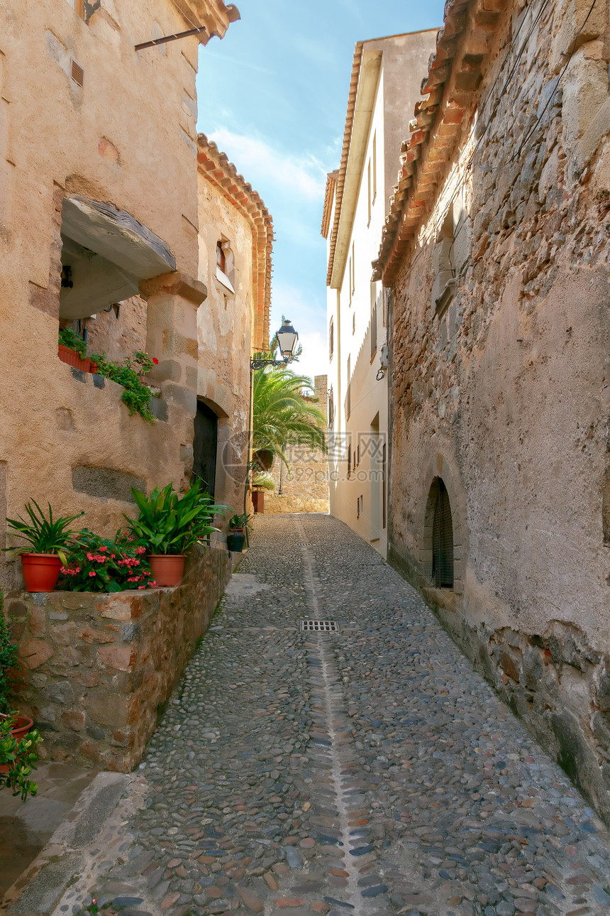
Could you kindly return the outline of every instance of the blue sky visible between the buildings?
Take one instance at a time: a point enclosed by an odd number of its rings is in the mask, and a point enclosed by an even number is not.
[[[199,51],[198,130],[227,153],[273,216],[272,332],[283,313],[294,322],[304,350],[298,371],[314,376],[326,372],[322,205],[326,172],[339,165],[354,45],[440,26],[444,3],[237,5],[241,20]]]

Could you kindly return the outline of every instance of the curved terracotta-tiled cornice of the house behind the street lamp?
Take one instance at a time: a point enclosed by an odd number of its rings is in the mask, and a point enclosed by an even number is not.
[[[273,248],[273,219],[258,191],[253,191],[226,153],[198,134],[198,169],[201,175],[217,187],[232,206],[242,213],[252,230],[252,302],[254,327],[252,352],[269,348],[269,314],[271,311],[271,255]]]

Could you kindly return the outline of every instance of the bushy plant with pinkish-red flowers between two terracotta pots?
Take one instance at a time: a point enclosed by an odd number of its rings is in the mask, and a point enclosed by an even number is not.
[[[125,532],[114,540],[82,529],[78,543],[61,567],[59,589],[66,592],[122,592],[123,589],[154,588],[155,577],[143,554]]]

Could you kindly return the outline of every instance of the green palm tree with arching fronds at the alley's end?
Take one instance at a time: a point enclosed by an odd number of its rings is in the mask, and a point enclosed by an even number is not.
[[[288,445],[305,445],[326,453],[326,417],[303,389],[311,379],[296,376],[290,369],[258,369],[252,383],[253,460],[268,470],[277,456],[286,466]]]

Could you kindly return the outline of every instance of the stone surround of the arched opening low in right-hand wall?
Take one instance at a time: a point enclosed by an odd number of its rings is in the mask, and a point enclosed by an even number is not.
[[[449,495],[451,505],[451,520],[454,529],[454,587],[437,588],[433,584],[433,522],[435,499],[433,496],[433,484],[436,479],[440,478]],[[423,475],[423,487],[420,498],[421,514],[418,523],[417,543],[419,546],[418,560],[420,572],[423,577],[423,585],[427,589],[432,589],[434,594],[439,597],[439,603],[444,604],[447,609],[453,607],[453,596],[458,597],[464,594],[464,575],[466,568],[467,553],[467,531],[466,531],[466,495],[459,481],[459,474],[456,470],[455,463],[447,458],[444,453],[437,452],[433,455],[425,474]],[[443,600],[446,596],[446,601]]]

